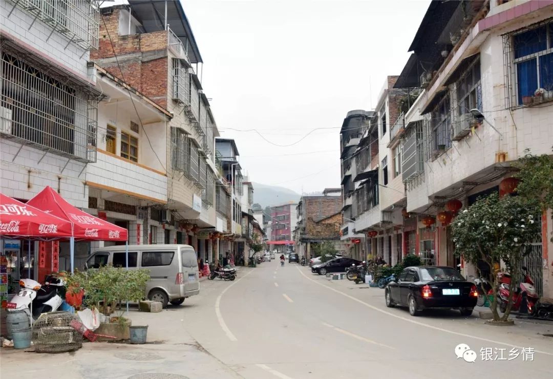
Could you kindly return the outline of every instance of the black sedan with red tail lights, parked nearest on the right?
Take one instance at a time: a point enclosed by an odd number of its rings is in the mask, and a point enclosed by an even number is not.
[[[472,314],[478,292],[452,267],[408,267],[395,282],[388,283],[384,296],[387,307],[404,305],[411,316],[423,309],[458,309],[463,316]]]

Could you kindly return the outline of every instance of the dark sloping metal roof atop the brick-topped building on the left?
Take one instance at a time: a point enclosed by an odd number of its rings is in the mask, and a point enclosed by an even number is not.
[[[133,16],[142,23],[145,32],[157,32],[165,29],[165,6],[167,6],[167,23],[185,46],[190,46],[188,58],[190,63],[204,63],[190,22],[186,18],[179,0],[128,0]],[[187,42],[188,40],[188,42]]]

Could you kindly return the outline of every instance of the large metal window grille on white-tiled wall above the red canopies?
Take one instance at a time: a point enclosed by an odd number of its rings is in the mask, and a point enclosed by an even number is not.
[[[2,54],[2,134],[81,162],[96,162],[97,100],[90,92]]]

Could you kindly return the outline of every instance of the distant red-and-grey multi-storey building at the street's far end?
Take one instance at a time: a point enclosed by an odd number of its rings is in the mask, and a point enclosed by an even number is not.
[[[286,203],[271,207],[269,250],[278,252],[292,251],[294,248],[292,231],[298,222],[295,203]]]

